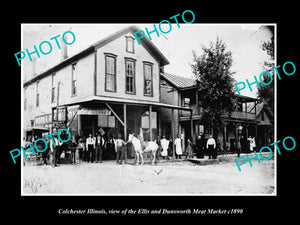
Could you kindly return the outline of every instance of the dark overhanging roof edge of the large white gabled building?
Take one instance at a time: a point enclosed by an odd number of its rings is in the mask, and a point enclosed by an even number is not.
[[[99,41],[97,41],[96,43],[92,44],[91,46],[89,46],[88,48],[82,50],[81,52],[68,57],[67,59],[61,61],[60,63],[58,63],[57,65],[49,68],[48,70],[34,76],[33,78],[31,78],[28,81],[25,81],[23,86],[26,87],[30,84],[32,84],[33,82],[42,79],[46,76],[48,76],[49,74],[52,74],[53,72],[77,61],[78,59],[81,59],[89,54],[92,54],[93,52],[95,52],[97,49],[101,48],[102,46],[114,41],[115,39],[121,37],[122,35],[130,32],[132,34],[134,34],[135,32],[139,31],[140,28],[138,26],[128,26],[125,27],[109,36],[107,36],[106,38],[103,38]],[[159,49],[153,44],[153,42],[151,40],[149,40],[146,36],[142,39],[139,40],[140,43],[142,44],[142,46],[151,54],[151,56],[153,56],[160,64],[160,66],[165,66],[167,64],[169,64],[170,62],[168,61],[168,59],[159,51]]]

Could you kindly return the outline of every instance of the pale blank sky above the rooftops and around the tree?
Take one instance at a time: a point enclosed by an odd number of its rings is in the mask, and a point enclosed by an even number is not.
[[[33,51],[33,45],[37,47],[42,41],[50,41],[56,35],[62,35],[71,30],[76,41],[68,45],[68,56],[72,56],[95,42],[107,37],[118,30],[137,25],[142,30],[153,30],[153,24],[23,24],[22,25],[22,51],[28,48]],[[264,24],[172,24],[172,30],[168,34],[157,37],[151,34],[152,42],[169,60],[165,66],[165,72],[184,77],[193,77],[190,64],[192,63],[194,50],[197,55],[202,54],[202,46],[208,46],[210,41],[221,38],[227,50],[232,51],[233,65],[236,82],[249,79],[254,81],[253,76],[259,76],[263,72],[263,63],[269,56],[262,50],[263,42],[270,40],[271,33],[263,27]],[[156,24],[158,27],[158,25]],[[168,25],[167,25],[168,26]],[[163,30],[167,30],[168,27]],[[53,41],[53,50],[49,55],[40,55],[36,62],[37,74],[49,69],[60,62],[60,50]],[[137,45],[137,43],[136,43]],[[46,51],[46,50],[45,50]],[[24,79],[30,78],[32,63],[26,57],[22,62]],[[254,85],[252,85],[254,88]],[[242,95],[256,97],[257,89],[250,92],[249,88],[241,91]]]

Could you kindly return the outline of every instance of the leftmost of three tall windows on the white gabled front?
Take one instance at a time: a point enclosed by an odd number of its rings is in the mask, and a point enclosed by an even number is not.
[[[105,91],[116,92],[116,56],[105,55]]]

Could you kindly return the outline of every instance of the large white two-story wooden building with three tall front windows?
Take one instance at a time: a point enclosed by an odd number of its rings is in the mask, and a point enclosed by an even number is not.
[[[138,30],[126,27],[25,81],[24,129],[51,130],[67,119],[72,136],[101,127],[127,139],[142,128],[145,140],[155,140],[160,109],[186,109],[161,103],[160,72],[169,61],[148,38],[137,45]]]

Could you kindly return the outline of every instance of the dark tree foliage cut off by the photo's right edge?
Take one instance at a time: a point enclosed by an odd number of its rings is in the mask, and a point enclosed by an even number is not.
[[[273,67],[275,67],[274,63],[274,35],[271,37],[270,41],[264,42],[262,44],[262,49],[267,52],[270,57],[269,60],[264,62],[263,69],[264,71],[269,71],[273,77],[275,77],[275,71],[270,71]],[[269,83],[270,77],[267,74],[263,76],[263,82]],[[269,112],[274,115],[274,81],[265,86],[260,84],[260,88],[258,89],[257,96],[264,102],[265,107],[269,110]]]

